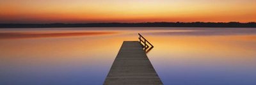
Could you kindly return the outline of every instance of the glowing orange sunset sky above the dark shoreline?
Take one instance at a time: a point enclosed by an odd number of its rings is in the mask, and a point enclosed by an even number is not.
[[[256,0],[0,0],[0,23],[256,22]]]

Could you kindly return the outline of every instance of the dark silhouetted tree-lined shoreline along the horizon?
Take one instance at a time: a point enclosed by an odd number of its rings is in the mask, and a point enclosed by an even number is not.
[[[256,22],[141,22],[141,23],[81,23],[81,24],[0,24],[0,28],[44,27],[256,27]]]

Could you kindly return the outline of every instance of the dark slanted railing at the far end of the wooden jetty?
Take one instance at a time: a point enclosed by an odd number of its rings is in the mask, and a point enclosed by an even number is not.
[[[148,40],[146,40],[146,38],[144,38],[142,35],[140,35],[140,33],[138,33],[138,34],[139,34],[140,43],[143,46],[143,49],[145,50],[146,53],[154,48],[154,46],[150,42],[148,42]]]

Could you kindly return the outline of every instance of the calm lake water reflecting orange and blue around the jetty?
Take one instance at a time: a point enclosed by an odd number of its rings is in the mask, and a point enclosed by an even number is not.
[[[256,84],[256,28],[167,27],[0,29],[0,84],[102,84],[138,33],[166,85]]]

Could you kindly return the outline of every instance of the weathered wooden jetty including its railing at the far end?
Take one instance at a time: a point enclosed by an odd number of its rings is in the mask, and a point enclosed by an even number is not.
[[[148,48],[152,49],[154,46],[141,35],[139,40],[123,42],[106,77],[105,85],[163,84],[146,54]]]

